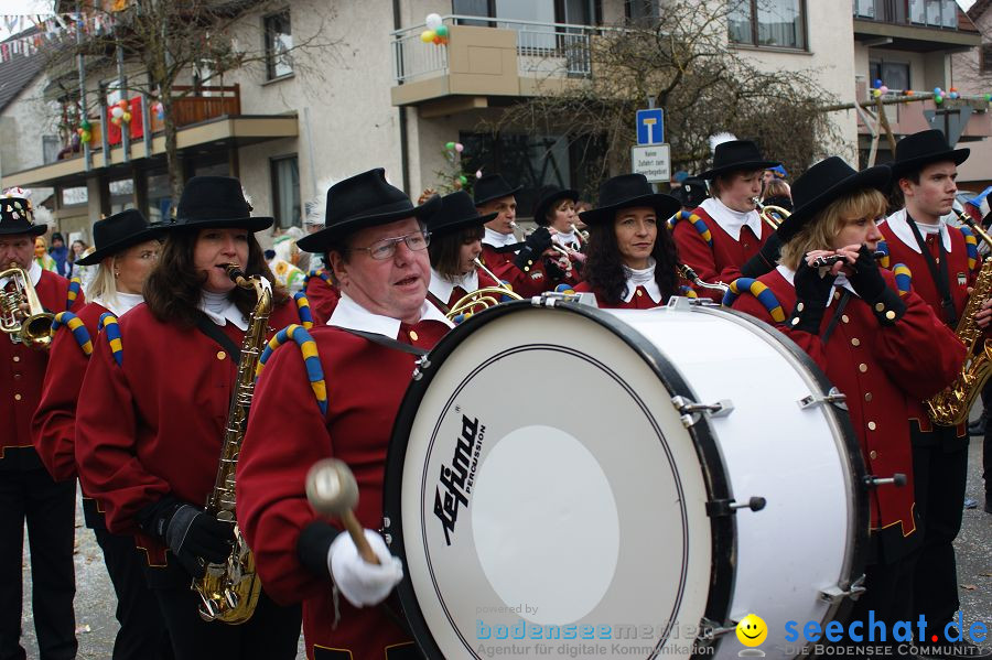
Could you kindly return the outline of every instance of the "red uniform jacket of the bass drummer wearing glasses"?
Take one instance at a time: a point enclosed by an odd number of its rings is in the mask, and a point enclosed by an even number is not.
[[[400,342],[430,348],[449,328],[427,321],[409,329],[401,326]],[[266,593],[281,604],[303,602],[308,658],[314,646],[351,651],[356,660],[384,658],[386,647],[410,638],[380,608],[356,609],[344,597],[341,623],[332,629],[332,584],[300,562],[296,541],[317,519],[306,501],[306,472],[327,456],[355,473],[360,523],[381,527],[386,452],[414,358],[334,326],[315,327],[312,335],[327,382],[327,413],[316,404],[300,350],[277,350],[259,378],[238,461],[238,521]]]

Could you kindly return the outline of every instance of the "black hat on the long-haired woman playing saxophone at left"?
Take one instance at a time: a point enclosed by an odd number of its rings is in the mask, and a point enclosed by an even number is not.
[[[236,227],[261,231],[272,226],[273,218],[251,216],[241,182],[233,176],[194,176],[186,182],[176,206],[171,229],[206,229]]]

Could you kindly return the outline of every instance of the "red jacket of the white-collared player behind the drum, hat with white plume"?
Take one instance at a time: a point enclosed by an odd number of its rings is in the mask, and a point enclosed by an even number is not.
[[[672,237],[679,250],[679,260],[692,268],[703,282],[723,282],[730,284],[741,277],[741,267],[758,253],[773,229],[762,223],[762,235],[756,237],[748,226],[741,228],[741,240],[724,231],[720,225],[701,207],[692,210],[702,219],[710,230],[710,246],[692,223],[676,223]],[[722,296],[719,291],[703,289],[699,295],[712,297],[718,303]]]

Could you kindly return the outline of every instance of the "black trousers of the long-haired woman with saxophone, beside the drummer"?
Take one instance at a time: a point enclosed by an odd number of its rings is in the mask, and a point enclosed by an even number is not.
[[[294,660],[300,641],[300,605],[280,607],[266,592],[244,624],[200,618],[200,595],[184,586],[153,587],[176,660]]]

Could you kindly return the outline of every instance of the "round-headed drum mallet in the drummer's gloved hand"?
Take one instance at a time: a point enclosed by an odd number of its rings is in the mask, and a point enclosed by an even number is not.
[[[337,518],[358,549],[358,555],[369,564],[378,564],[379,558],[373,552],[362,523],[355,518],[358,504],[358,484],[355,475],[344,461],[322,458],[306,473],[306,499],[317,513]]]

